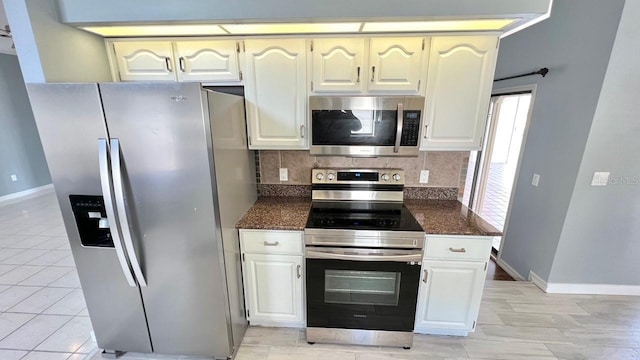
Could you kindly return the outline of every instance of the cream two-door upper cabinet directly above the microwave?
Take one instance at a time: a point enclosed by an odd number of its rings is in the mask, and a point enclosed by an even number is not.
[[[311,42],[314,94],[421,94],[424,37],[335,38]]]

